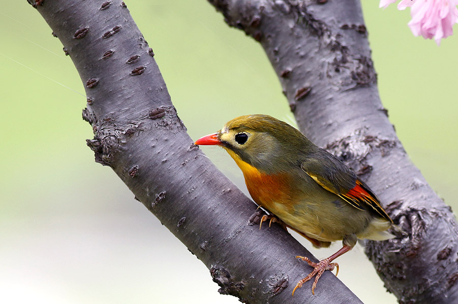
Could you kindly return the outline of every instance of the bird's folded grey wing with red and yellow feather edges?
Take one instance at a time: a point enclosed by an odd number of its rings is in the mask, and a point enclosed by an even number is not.
[[[321,152],[321,151],[320,151]],[[359,210],[372,210],[393,222],[370,188],[334,155],[323,151],[307,157],[302,170],[320,186]]]

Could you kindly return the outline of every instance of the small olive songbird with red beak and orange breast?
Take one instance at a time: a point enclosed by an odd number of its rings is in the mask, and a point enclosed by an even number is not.
[[[312,293],[332,261],[350,251],[357,239],[387,240],[396,228],[370,188],[334,155],[310,142],[289,124],[268,115],[234,118],[196,145],[224,148],[243,172],[253,200],[316,247],[342,240],[335,254],[319,263],[293,290],[316,279]],[[264,216],[263,221],[269,217]],[[272,217],[271,217],[272,221]]]

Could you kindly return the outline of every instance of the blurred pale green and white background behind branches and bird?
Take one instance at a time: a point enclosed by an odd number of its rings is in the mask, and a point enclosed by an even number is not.
[[[229,28],[205,0],[125,2],[193,139],[245,114],[294,124],[260,45]],[[438,47],[413,37],[408,10],[382,10],[375,0],[363,6],[391,122],[427,181],[456,209],[458,37]],[[238,303],[219,295],[208,269],[94,162],[81,80],[39,13],[25,1],[2,8],[0,302]],[[226,153],[204,151],[246,192]],[[313,253],[324,258],[339,246]],[[364,302],[396,301],[361,247],[338,262],[339,278]]]

